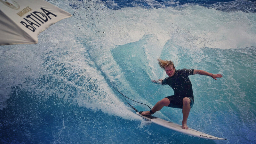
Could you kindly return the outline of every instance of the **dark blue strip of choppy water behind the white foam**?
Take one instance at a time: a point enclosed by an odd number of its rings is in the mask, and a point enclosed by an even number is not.
[[[251,0],[226,0],[226,1],[210,1],[210,0],[102,0],[102,2],[113,10],[120,10],[125,7],[141,7],[146,9],[167,8],[167,7],[183,7],[186,5],[200,5],[207,8],[215,8],[223,12],[253,12],[256,13],[256,3]]]

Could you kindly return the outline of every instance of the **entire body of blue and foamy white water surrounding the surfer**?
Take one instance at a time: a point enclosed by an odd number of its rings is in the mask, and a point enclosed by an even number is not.
[[[1,143],[256,143],[255,1],[48,2],[73,16],[0,47]],[[166,77],[157,58],[223,75],[189,76],[188,126],[228,140],[150,124],[112,88],[150,107],[172,95],[150,82]],[[182,110],[154,116],[181,124]]]

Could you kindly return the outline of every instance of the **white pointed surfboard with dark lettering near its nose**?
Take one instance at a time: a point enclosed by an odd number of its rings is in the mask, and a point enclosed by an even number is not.
[[[139,113],[139,112],[137,112],[136,114],[143,117],[144,119],[146,119],[148,121],[151,121],[155,124],[164,126],[166,128],[169,128],[169,129],[177,131],[177,132],[181,132],[184,134],[188,134],[188,135],[199,137],[199,138],[209,139],[209,140],[227,140],[227,139],[218,138],[218,137],[215,137],[215,136],[212,136],[209,134],[205,134],[203,132],[198,132],[198,131],[190,129],[190,128],[185,130],[185,129],[182,129],[182,126],[179,124],[175,124],[175,123],[163,120],[163,119],[155,117],[155,116],[142,116],[141,113]]]

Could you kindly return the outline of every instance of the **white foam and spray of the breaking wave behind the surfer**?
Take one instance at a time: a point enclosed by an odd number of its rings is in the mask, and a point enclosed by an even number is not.
[[[144,47],[149,67],[153,70],[152,79],[164,75],[159,74],[155,60],[160,57],[169,40],[172,40],[174,48],[180,46],[191,50],[256,45],[254,13],[227,13],[197,5],[110,10],[97,1],[52,3],[70,12],[73,17],[45,30],[36,45],[1,46],[1,109],[6,107],[4,102],[9,98],[12,86],[21,84],[22,88],[32,89],[38,94],[44,92],[46,98],[51,92],[58,93],[60,89],[47,90],[47,86],[37,89],[32,84],[43,75],[51,75],[63,81],[60,87],[68,87],[67,84],[70,84],[79,91],[74,97],[70,96],[70,92],[64,92],[60,95],[64,100],[71,99],[72,103],[79,106],[133,119],[135,116],[131,109],[113,93],[94,65],[95,62],[110,81],[121,85],[118,88],[123,92],[131,92],[138,100],[142,100],[129,87],[111,55],[110,51],[117,45],[136,42],[143,36],[151,35],[152,42]],[[73,8],[69,6],[71,4]],[[61,71],[62,68],[66,70]],[[76,73],[78,77],[68,80],[69,76]],[[85,83],[77,86],[80,77],[85,77]],[[31,80],[26,82],[28,78]],[[94,89],[84,88],[90,84]],[[121,115],[121,111],[125,111],[127,116]]]

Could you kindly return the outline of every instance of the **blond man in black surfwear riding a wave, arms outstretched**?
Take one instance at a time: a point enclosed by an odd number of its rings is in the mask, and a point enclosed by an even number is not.
[[[172,87],[174,95],[165,97],[164,99],[158,101],[156,105],[150,111],[144,111],[141,115],[152,115],[156,111],[159,111],[164,106],[171,108],[182,108],[183,120],[182,128],[188,129],[187,119],[190,108],[194,104],[194,95],[192,90],[192,84],[188,78],[189,75],[205,75],[211,76],[213,79],[222,77],[221,74],[212,74],[204,70],[198,69],[179,69],[176,70],[173,62],[170,60],[157,59],[158,64],[163,68],[169,77],[164,80],[159,79],[158,81],[152,80],[154,83],[158,84],[168,84]]]

